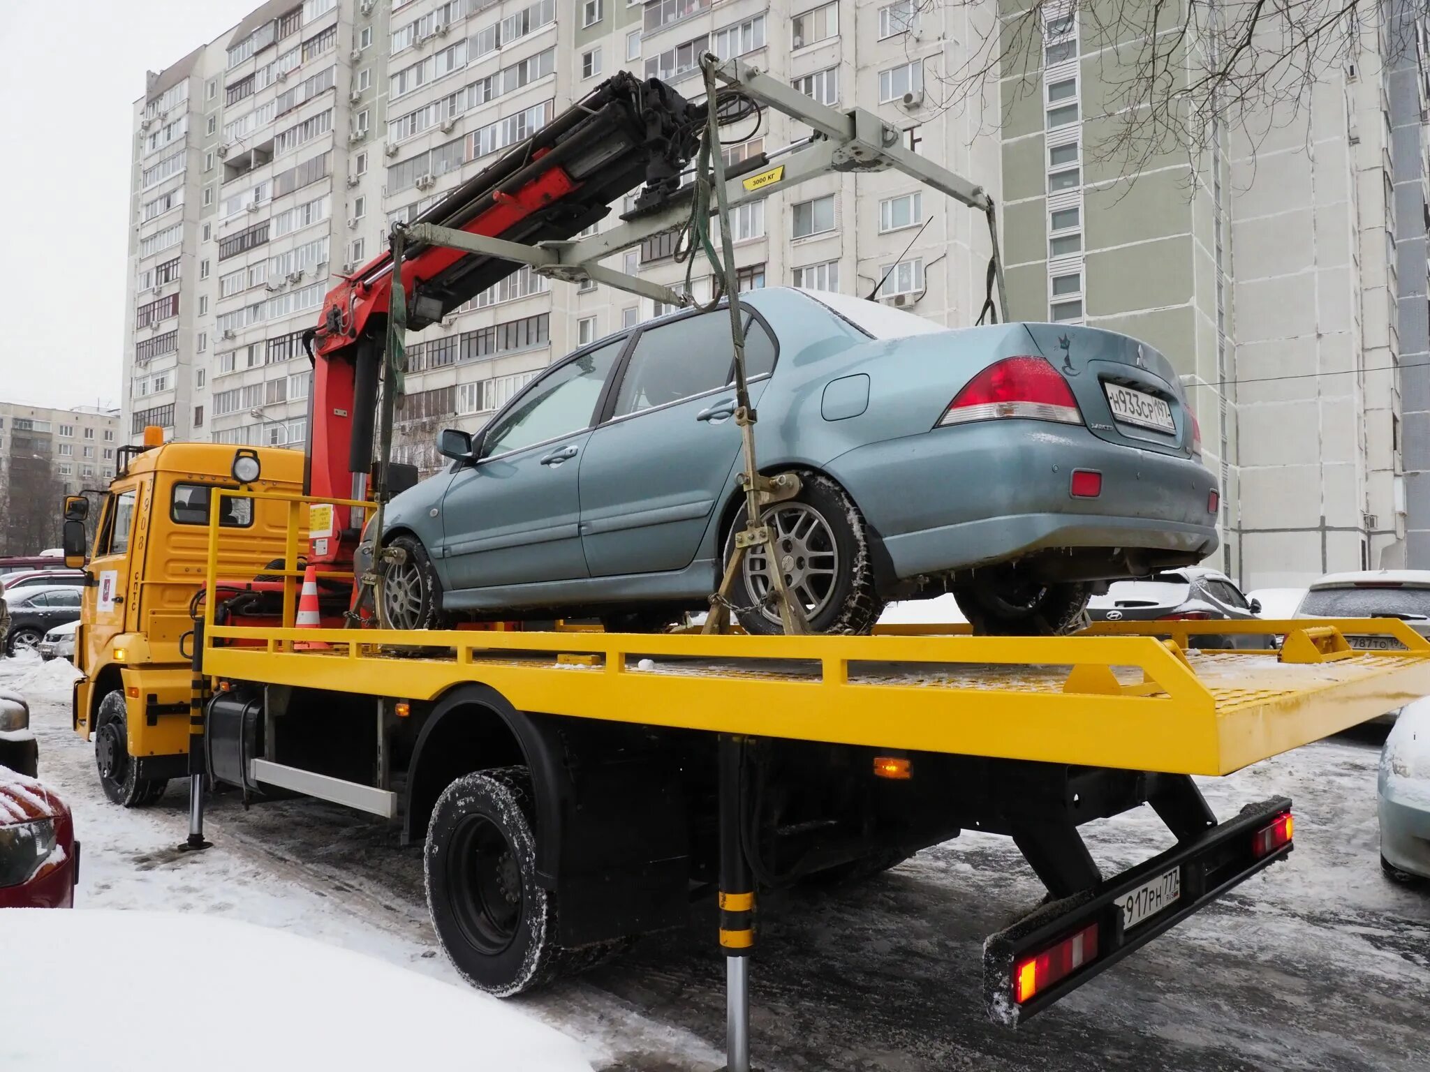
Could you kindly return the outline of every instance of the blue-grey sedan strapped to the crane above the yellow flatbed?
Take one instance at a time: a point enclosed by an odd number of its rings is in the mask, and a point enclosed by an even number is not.
[[[1171,364],[1068,324],[947,330],[788,287],[741,299],[771,506],[731,603],[779,630],[771,563],[818,632],[952,590],[984,632],[1077,627],[1091,582],[1201,560],[1217,483]],[[398,496],[388,619],[674,619],[708,606],[744,527],[728,312],[688,310],[556,362],[452,466]],[[370,553],[370,550],[369,550]]]

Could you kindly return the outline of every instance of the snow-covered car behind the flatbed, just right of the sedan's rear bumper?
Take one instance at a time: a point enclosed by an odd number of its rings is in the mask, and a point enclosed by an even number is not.
[[[1114,580],[1107,595],[1093,596],[1087,613],[1094,622],[1205,622],[1256,619],[1261,605],[1247,599],[1226,573],[1184,566],[1147,580]],[[1273,647],[1264,633],[1216,633],[1191,637],[1193,647]]]

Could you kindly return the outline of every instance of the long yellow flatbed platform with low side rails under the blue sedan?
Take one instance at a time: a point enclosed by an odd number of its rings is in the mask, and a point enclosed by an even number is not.
[[[305,502],[290,499],[295,509]],[[212,527],[210,557],[220,539]],[[1174,632],[1185,643],[1158,637]],[[1280,646],[1188,646],[1233,633],[1276,636]],[[1351,649],[1346,636],[1400,647]],[[296,640],[332,647],[293,650]],[[1394,619],[1108,622],[1067,637],[968,636],[958,626],[702,636],[210,620],[204,670],[406,700],[480,682],[518,709],[551,715],[1223,775],[1430,693],[1430,643]]]

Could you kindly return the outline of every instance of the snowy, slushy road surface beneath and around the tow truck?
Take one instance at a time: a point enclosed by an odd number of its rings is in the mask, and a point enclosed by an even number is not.
[[[0,683],[37,665],[0,662]],[[63,669],[63,667],[59,667]],[[46,667],[50,670],[50,667]],[[56,670],[50,670],[50,678]],[[23,678],[20,678],[23,680]],[[316,802],[210,809],[216,846],[172,852],[184,799],[109,805],[69,689],[31,685],[40,776],[76,810],[77,903],[212,912],[293,929],[456,982],[422,900],[422,859],[383,823]],[[756,1063],[797,1069],[1423,1069],[1430,1036],[1430,895],[1377,863],[1379,736],[1300,749],[1204,790],[1223,818],[1286,793],[1284,865],[1098,976],[1024,1029],[982,1019],[984,935],[1041,895],[1001,838],[965,833],[857,889],[762,905],[754,968]],[[1084,828],[1104,872],[1170,839],[1147,810]],[[714,922],[644,939],[623,959],[518,1003],[578,1038],[596,1069],[709,1072],[722,1061]]]

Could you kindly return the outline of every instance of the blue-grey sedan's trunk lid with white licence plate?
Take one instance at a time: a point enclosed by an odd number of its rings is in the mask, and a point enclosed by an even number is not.
[[[1171,362],[1161,353],[1098,327],[1030,323],[1027,329],[1041,354],[1068,382],[1094,436],[1163,455],[1193,456],[1193,415]],[[1110,392],[1121,399],[1117,415]],[[1171,429],[1154,426],[1163,413],[1170,415]]]

